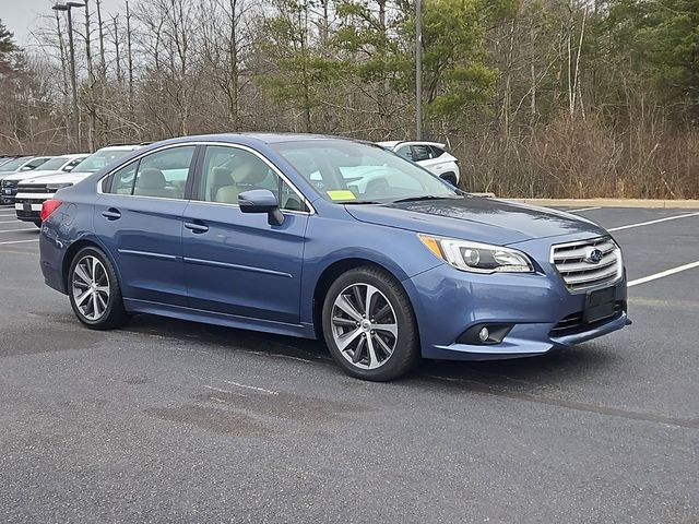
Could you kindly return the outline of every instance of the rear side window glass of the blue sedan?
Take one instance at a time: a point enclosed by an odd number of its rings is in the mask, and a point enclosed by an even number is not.
[[[194,150],[193,145],[171,147],[132,162],[111,174],[105,192],[183,199]]]

